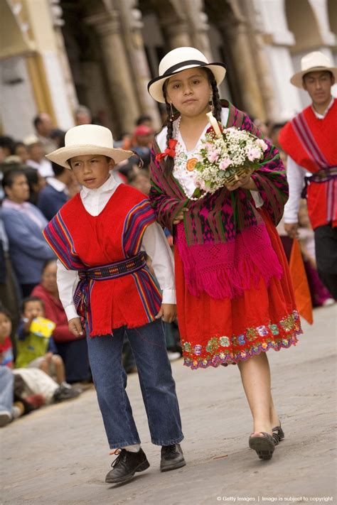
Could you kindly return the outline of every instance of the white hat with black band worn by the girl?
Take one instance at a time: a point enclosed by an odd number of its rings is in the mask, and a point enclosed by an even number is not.
[[[157,102],[164,104],[164,82],[171,75],[194,67],[209,68],[213,72],[217,85],[223,82],[226,73],[223,63],[209,63],[205,55],[196,48],[176,48],[167,53],[159,63],[159,77],[152,79],[147,85],[149,94]]]

